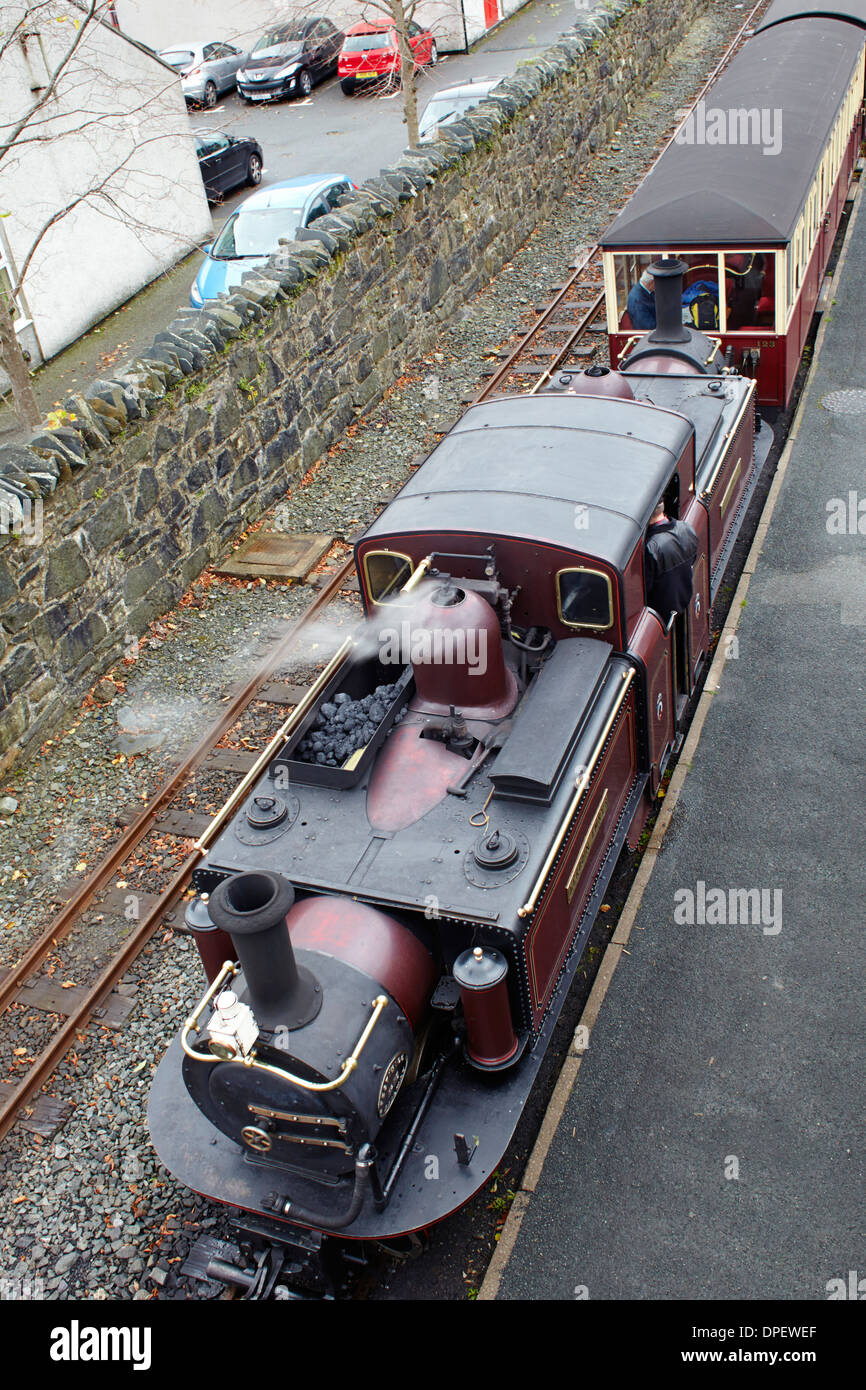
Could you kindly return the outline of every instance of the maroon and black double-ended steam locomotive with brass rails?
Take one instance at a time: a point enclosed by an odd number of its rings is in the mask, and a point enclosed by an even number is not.
[[[203,1277],[328,1289],[334,1237],[430,1227],[507,1148],[770,445],[755,381],[681,321],[684,270],[653,265],[631,364],[474,406],[374,521],[364,632],[195,873],[209,984],[150,1130],[259,1251],[211,1241]],[[698,535],[678,614],[646,598],[659,499]]]

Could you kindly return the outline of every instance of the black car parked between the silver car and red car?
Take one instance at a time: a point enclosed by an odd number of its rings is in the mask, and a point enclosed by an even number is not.
[[[245,101],[309,96],[316,82],[336,71],[343,32],[329,19],[292,19],[263,33],[238,74]]]

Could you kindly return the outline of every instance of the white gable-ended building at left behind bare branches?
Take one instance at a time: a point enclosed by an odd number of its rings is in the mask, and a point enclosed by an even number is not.
[[[0,149],[0,292],[21,279],[39,363],[209,240],[211,218],[177,74],[75,0],[3,0],[3,28],[0,147],[38,108]]]

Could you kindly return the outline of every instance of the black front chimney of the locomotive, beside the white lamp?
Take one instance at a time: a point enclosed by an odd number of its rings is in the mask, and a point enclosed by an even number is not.
[[[286,915],[295,890],[279,873],[238,873],[211,894],[217,927],[235,942],[260,1027],[302,1029],[322,1004],[316,977],[295,960]]]

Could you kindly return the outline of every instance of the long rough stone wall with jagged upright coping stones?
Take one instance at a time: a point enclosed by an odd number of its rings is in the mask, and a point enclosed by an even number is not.
[[[613,0],[0,448],[0,755],[43,738],[525,242],[702,0]],[[44,500],[43,500],[44,499]],[[39,510],[43,509],[39,534]],[[24,525],[21,523],[24,521]]]

